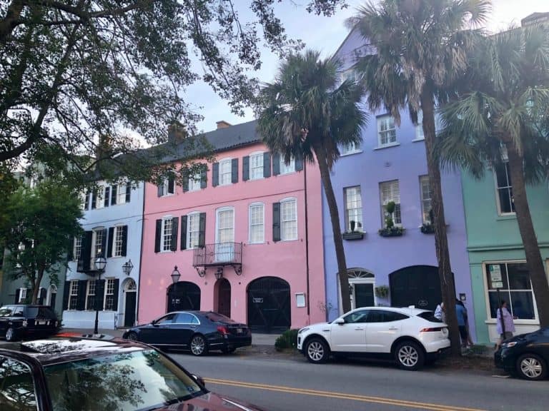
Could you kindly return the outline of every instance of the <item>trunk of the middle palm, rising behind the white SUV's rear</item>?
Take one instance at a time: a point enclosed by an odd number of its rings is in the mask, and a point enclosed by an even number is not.
[[[450,267],[450,253],[448,251],[448,239],[446,236],[446,221],[444,217],[444,204],[442,203],[442,183],[440,181],[440,168],[435,160],[435,102],[428,86],[424,87],[421,95],[421,109],[423,112],[423,134],[425,136],[425,151],[427,154],[427,171],[431,186],[432,225],[435,228],[435,249],[437,252],[438,275],[440,276],[440,289],[445,309],[445,322],[450,331],[450,343],[452,355],[461,355],[460,333],[458,318],[455,315],[455,285]]]

